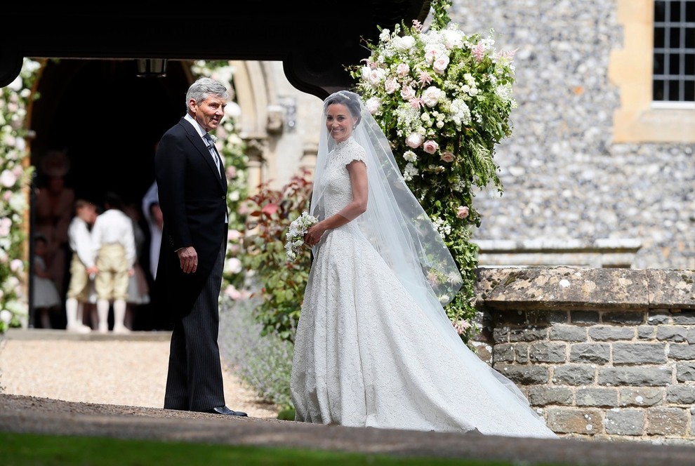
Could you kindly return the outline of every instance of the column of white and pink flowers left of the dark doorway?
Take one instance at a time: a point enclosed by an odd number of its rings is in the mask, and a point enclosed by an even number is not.
[[[0,88],[0,333],[21,326],[28,315],[21,225],[29,211],[27,189],[34,167],[25,164],[25,117],[40,68],[39,62],[25,58],[17,79]]]

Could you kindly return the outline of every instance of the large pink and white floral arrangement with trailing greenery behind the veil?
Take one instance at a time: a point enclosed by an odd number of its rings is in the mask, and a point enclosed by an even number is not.
[[[392,145],[406,182],[421,201],[458,263],[464,286],[446,312],[462,338],[477,329],[472,306],[477,247],[472,227],[481,217],[472,187],[494,184],[502,193],[495,145],[511,134],[512,52],[451,23],[446,0],[433,0],[432,24],[380,29],[364,64],[348,67],[356,91]]]

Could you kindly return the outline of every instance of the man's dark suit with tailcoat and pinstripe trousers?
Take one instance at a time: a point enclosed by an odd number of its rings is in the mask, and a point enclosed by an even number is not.
[[[181,119],[154,156],[164,216],[154,292],[173,333],[164,408],[225,406],[218,346],[220,287],[227,245],[227,180],[190,121]],[[185,274],[176,251],[193,246],[197,271]]]

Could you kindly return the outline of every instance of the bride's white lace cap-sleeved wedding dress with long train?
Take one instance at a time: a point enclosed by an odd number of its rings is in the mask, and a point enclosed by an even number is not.
[[[348,140],[331,154],[326,217],[352,200],[345,165],[362,159],[360,149]],[[296,420],[556,437],[520,392],[505,386],[512,382],[460,340],[463,351],[451,351],[446,340],[357,222],[328,230],[315,249],[296,333]]]

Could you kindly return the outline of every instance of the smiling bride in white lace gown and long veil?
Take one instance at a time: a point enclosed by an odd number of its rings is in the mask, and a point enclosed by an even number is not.
[[[462,285],[449,249],[359,95],[324,100],[305,235],[314,261],[295,338],[296,420],[557,437],[442,307]]]

